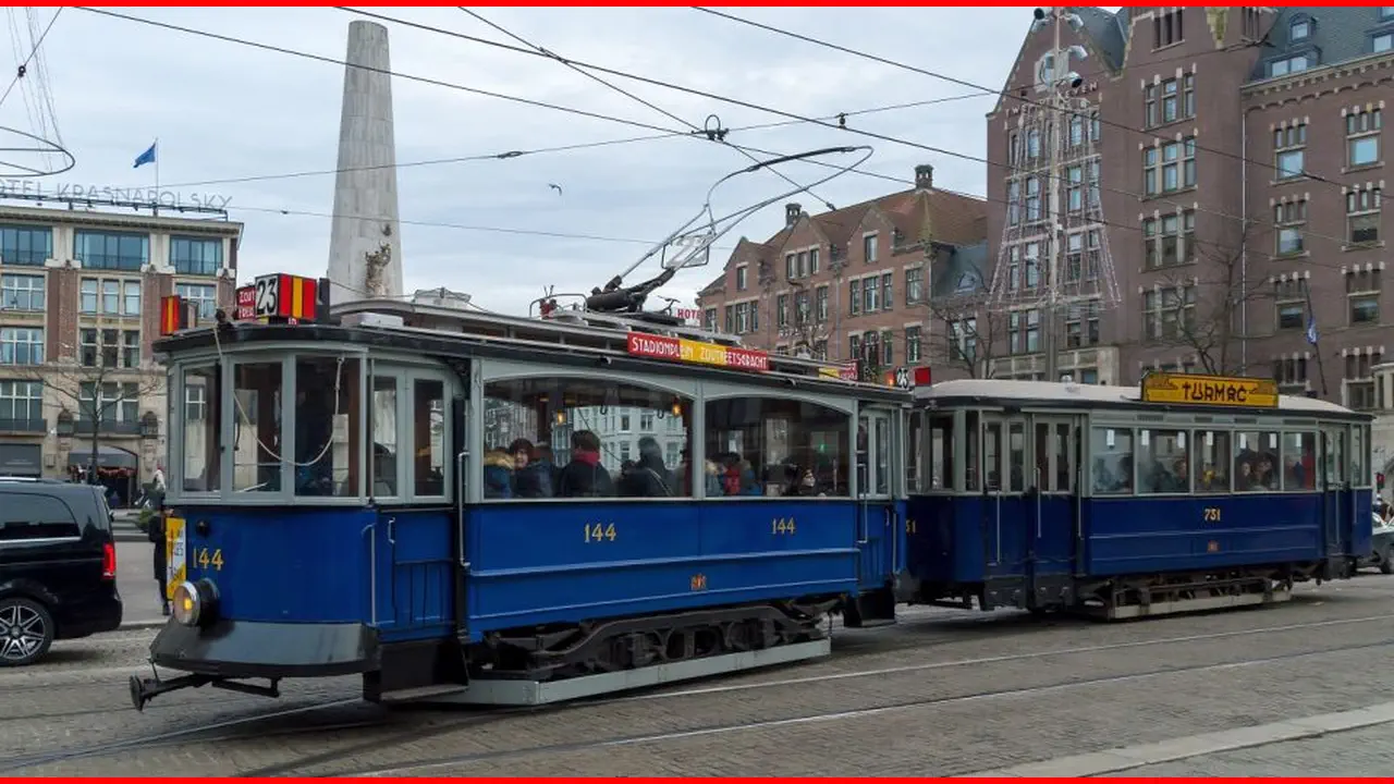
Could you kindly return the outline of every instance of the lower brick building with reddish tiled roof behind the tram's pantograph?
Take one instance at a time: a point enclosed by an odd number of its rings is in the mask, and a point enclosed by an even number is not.
[[[977,279],[986,205],[937,190],[916,166],[914,188],[809,215],[785,205],[763,243],[742,237],[719,278],[697,294],[704,326],[779,353],[861,360],[868,378],[933,363],[931,292]]]

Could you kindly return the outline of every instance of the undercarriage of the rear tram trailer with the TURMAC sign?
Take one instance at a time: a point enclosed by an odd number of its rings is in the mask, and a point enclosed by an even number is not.
[[[1292,598],[1295,583],[1345,578],[1349,576],[1349,564],[1340,559],[1108,579],[1013,576],[991,579],[976,586],[923,583],[910,601],[956,610],[1015,608],[1039,614],[1069,612],[1104,621],[1122,621],[1278,604]]]

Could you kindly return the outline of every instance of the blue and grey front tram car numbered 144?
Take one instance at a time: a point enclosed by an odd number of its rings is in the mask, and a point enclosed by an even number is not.
[[[342,307],[362,324],[158,343],[174,611],[137,709],[353,674],[375,702],[537,704],[894,622],[907,392],[662,325]]]

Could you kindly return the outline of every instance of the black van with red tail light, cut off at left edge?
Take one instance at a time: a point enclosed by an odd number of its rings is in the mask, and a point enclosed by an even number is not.
[[[100,485],[0,477],[0,667],[121,625]]]

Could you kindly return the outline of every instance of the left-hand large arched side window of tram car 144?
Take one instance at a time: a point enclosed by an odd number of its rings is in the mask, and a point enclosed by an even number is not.
[[[514,386],[510,388],[509,385]],[[533,389],[533,386],[537,386],[537,389]],[[581,392],[583,388],[590,388],[590,389],[584,389],[584,392]],[[546,403],[546,400],[553,398],[565,402],[569,389],[572,391],[570,392],[572,395],[591,395],[591,393],[598,395],[595,398],[597,402],[594,403],[588,402],[587,405],[583,406],[566,407],[565,409],[566,413],[562,414],[565,419],[562,420],[555,419],[560,412],[556,412],[552,407],[549,407],[546,410],[545,417],[542,416],[537,417],[534,432],[528,434],[523,431],[514,434],[510,427],[507,434],[507,444],[489,442],[489,434],[488,434],[489,424],[488,424],[488,414],[485,412],[487,407],[489,406],[488,403],[489,400],[510,403],[514,406],[527,406],[527,403],[520,402],[520,398],[527,398],[527,396],[538,396],[531,405]],[[636,396],[644,395],[648,396],[650,400],[643,405],[638,405],[637,402],[631,405],[630,402],[626,402],[627,395],[636,395]],[[677,416],[682,417],[683,423],[683,427],[677,431],[668,430],[666,424],[662,427],[655,425],[652,432],[644,432],[641,428],[636,431],[634,428],[625,428],[623,425],[618,428],[606,428],[605,425],[605,423],[613,417],[615,413],[613,409],[622,409],[622,410],[636,409],[637,413],[631,421],[640,420],[641,417],[638,414],[641,413],[652,412],[655,414],[654,417],[655,423],[658,423],[658,421],[666,421],[668,417],[673,416],[675,405],[677,406]],[[694,498],[694,492],[698,490],[694,485],[694,481],[707,478],[705,472],[697,473],[697,460],[694,459],[697,456],[696,449],[693,446],[696,441],[694,434],[697,432],[697,421],[694,420],[696,405],[697,405],[696,396],[689,391],[673,389],[666,385],[650,384],[633,378],[629,378],[618,384],[613,377],[592,375],[585,372],[566,372],[565,375],[556,375],[556,374],[539,375],[535,371],[524,371],[524,372],[500,372],[498,375],[489,375],[484,382],[481,403],[478,409],[481,414],[481,421],[478,427],[478,437],[474,444],[474,446],[480,451],[480,460],[477,460],[478,467],[473,469],[471,473],[471,476],[474,476],[480,483],[477,498],[482,504],[691,501]],[[584,412],[584,416],[577,412]],[[534,414],[537,413],[538,412],[534,412]],[[659,413],[664,414],[662,419],[658,419]],[[573,420],[573,417],[576,417],[576,420]],[[587,417],[595,417],[595,419],[590,420]],[[630,420],[629,414],[623,412],[620,419]],[[558,491],[556,483],[558,478],[560,477],[560,472],[570,462],[572,437],[576,432],[579,432],[579,430],[576,430],[577,420],[581,424],[584,424],[584,427],[581,427],[580,430],[595,432],[597,437],[602,438],[601,465],[598,467],[599,470],[604,470],[609,474],[611,488],[612,488],[612,492],[609,495],[572,495],[572,497],[556,495]],[[545,441],[541,432],[544,427],[546,428],[548,432]],[[604,441],[605,437],[601,435],[606,430],[613,431],[611,434],[612,437],[625,438],[626,441],[616,445],[613,451],[608,449]],[[679,435],[679,434],[682,435],[683,439],[682,446],[679,449],[679,465],[669,466],[666,455],[668,451],[662,449],[664,445],[662,439],[669,435]],[[488,481],[487,481],[489,455],[493,452],[506,451],[520,437],[530,441],[534,446],[534,451],[541,444],[544,442],[548,444],[552,453],[552,474],[549,483],[551,485],[549,494],[545,497],[517,497],[512,495],[513,487],[510,484],[510,497],[507,498],[489,497]],[[629,441],[629,438],[633,438],[634,441]],[[606,458],[613,458],[619,460],[626,456],[631,456],[633,453],[625,455],[619,449],[619,446],[629,446],[630,444],[636,444],[643,438],[654,438],[655,441],[659,442],[664,455],[662,458],[664,467],[672,477],[673,487],[669,488],[669,491],[672,492],[671,495],[657,495],[657,497],[620,495],[622,492],[620,483],[623,480],[623,476],[619,473],[620,465],[616,462],[615,470],[611,470],[608,466],[605,466]],[[537,460],[537,452],[534,452],[533,459]],[[687,460],[686,476],[682,470],[683,459]],[[661,481],[665,485],[668,484],[666,481],[662,480],[662,477]]]

